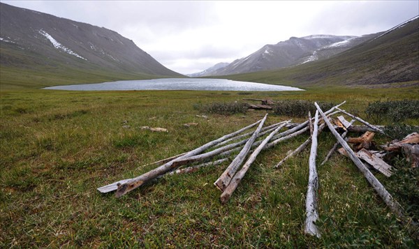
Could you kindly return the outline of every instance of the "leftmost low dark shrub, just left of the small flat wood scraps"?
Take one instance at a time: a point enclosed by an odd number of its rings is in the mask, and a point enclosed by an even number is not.
[[[232,115],[237,113],[246,113],[249,109],[247,103],[210,103],[207,105],[196,104],[193,109],[200,110],[200,112],[214,113],[221,115]]]

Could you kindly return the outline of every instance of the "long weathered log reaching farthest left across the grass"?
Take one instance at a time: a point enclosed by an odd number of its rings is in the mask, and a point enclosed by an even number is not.
[[[129,181],[125,181],[124,183],[120,183],[121,181],[111,183],[111,184],[108,185],[108,188],[106,188],[106,190],[107,190],[107,192],[117,190],[117,193],[115,193],[115,196],[116,197],[121,197],[122,195],[125,195],[126,193],[134,190],[135,188],[138,188],[139,186],[142,186],[142,184],[144,184],[144,183],[146,183],[146,182],[148,182],[152,179],[155,179],[157,176],[161,176],[162,174],[166,174],[167,172],[171,171],[173,169],[172,163],[175,160],[190,157],[190,156],[195,156],[198,153],[202,153],[206,149],[209,149],[210,147],[218,144],[219,142],[223,142],[225,139],[229,139],[230,137],[234,137],[237,134],[242,133],[244,130],[248,130],[249,128],[252,128],[253,126],[256,126],[258,123],[260,123],[260,121],[262,121],[262,120],[259,120],[255,123],[252,123],[250,126],[241,128],[240,130],[237,130],[234,133],[224,135],[222,137],[219,137],[218,139],[215,139],[211,142],[208,142],[207,144],[204,144],[203,146],[200,146],[197,149],[193,149],[192,151],[189,151],[188,153],[186,153],[183,156],[180,156],[179,158],[175,158],[174,160],[171,160],[168,163],[165,163],[164,165],[156,167],[156,169],[152,169],[149,172],[146,172],[145,174],[137,176],[133,179],[129,179]],[[99,189],[100,188],[98,188],[98,190]],[[105,192],[103,192],[103,193],[105,193]]]

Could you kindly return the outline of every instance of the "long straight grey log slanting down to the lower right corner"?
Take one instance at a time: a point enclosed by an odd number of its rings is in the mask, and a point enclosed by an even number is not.
[[[341,146],[348,152],[349,158],[351,158],[353,163],[355,163],[355,165],[358,167],[358,169],[360,169],[360,172],[362,172],[362,174],[365,176],[365,178],[367,179],[369,184],[371,184],[371,186],[374,188],[374,190],[376,190],[378,195],[381,197],[381,199],[383,199],[383,201],[385,202],[385,204],[387,204],[387,206],[390,208],[390,210],[393,213],[395,213],[396,216],[398,216],[399,218],[404,219],[402,206],[400,206],[400,204],[390,195],[390,193],[388,193],[388,191],[384,188],[383,184],[381,184],[380,181],[378,181],[378,179],[376,179],[374,174],[372,174],[369,171],[369,169],[367,169],[367,167],[365,167],[365,165],[361,162],[360,158],[355,156],[355,153],[352,151],[351,147],[348,146],[348,144],[339,135],[339,133],[337,133],[337,131],[335,129],[333,129],[332,123],[330,123],[330,121],[325,119],[325,114],[322,112],[321,108],[317,105],[317,103],[314,103],[314,105],[316,105],[316,108],[317,108],[318,112],[321,114],[321,116],[323,116],[326,124],[328,125],[328,127],[330,129],[330,132],[332,132],[332,134],[336,137],[336,139],[339,141]]]

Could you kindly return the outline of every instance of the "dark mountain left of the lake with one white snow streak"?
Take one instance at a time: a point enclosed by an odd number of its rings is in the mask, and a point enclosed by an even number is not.
[[[1,82],[24,71],[42,71],[64,81],[80,74],[87,81],[95,78],[91,75],[103,80],[182,76],[110,29],[5,3],[0,7]]]

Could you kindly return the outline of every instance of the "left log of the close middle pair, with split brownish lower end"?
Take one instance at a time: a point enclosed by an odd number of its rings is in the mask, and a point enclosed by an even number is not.
[[[259,126],[256,129],[255,133],[253,133],[251,138],[244,145],[242,151],[240,151],[240,153],[234,158],[233,162],[231,162],[230,165],[228,165],[227,169],[223,172],[223,174],[221,174],[219,179],[217,179],[214,182],[214,186],[216,186],[216,188],[218,188],[221,191],[224,191],[226,189],[231,179],[233,179],[233,176],[237,172],[238,167],[242,165],[244,159],[247,156],[247,153],[249,153],[251,149],[251,145],[253,144],[253,142],[255,142],[256,137],[258,136],[258,133],[262,129],[263,123],[265,123],[266,118],[267,118],[267,114],[265,114],[265,117],[259,123]]]

